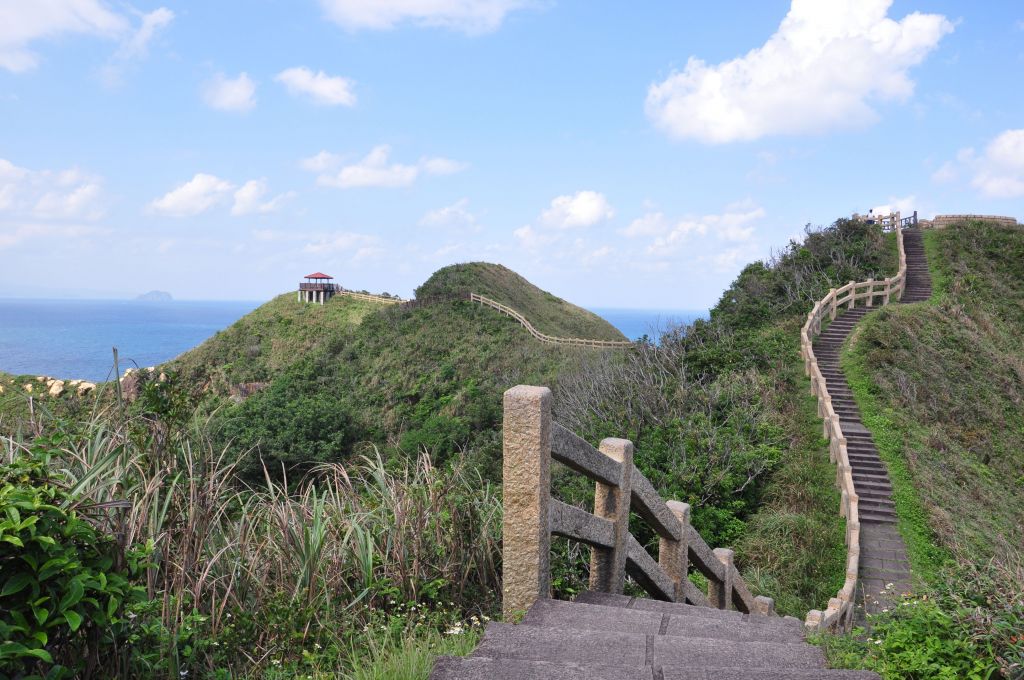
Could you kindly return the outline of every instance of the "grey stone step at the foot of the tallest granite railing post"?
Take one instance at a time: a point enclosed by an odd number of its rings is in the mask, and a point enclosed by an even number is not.
[[[644,609],[551,599],[538,600],[520,625],[744,642],[803,642],[804,639],[802,631],[790,625],[759,626],[749,622],[672,615]]]

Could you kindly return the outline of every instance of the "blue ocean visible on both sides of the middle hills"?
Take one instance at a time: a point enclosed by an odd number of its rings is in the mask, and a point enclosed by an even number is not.
[[[0,371],[90,381],[155,366],[191,349],[259,306],[259,302],[0,299]],[[669,324],[707,312],[592,309],[631,340],[657,337]]]

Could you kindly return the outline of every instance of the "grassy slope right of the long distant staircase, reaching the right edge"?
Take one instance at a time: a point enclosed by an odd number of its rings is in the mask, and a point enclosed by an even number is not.
[[[925,584],[870,623],[878,644],[830,655],[886,678],[1021,678],[1024,230],[953,225],[926,251],[932,300],[868,315],[843,358]]]

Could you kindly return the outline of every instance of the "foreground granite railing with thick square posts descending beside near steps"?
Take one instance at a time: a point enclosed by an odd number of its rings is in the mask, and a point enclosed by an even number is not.
[[[503,611],[507,620],[550,597],[551,536],[591,546],[591,590],[622,593],[629,575],[651,596],[745,613],[774,614],[753,597],[731,550],[712,550],[690,525],[685,503],[663,501],[633,465],[633,443],[604,439],[595,449],[551,419],[551,390],[519,385],[505,392],[503,461]],[[551,498],[551,461],[596,482],[594,513]],[[630,511],[658,535],[655,560],[630,534]],[[708,579],[705,595],[690,566]]]

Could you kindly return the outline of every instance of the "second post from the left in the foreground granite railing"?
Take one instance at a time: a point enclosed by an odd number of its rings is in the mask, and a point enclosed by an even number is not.
[[[630,497],[633,493],[633,442],[628,439],[603,439],[598,450],[620,463],[622,472],[616,485],[598,481],[594,487],[594,514],[614,523],[615,545],[613,548],[591,548],[590,589],[622,593],[626,585]]]

